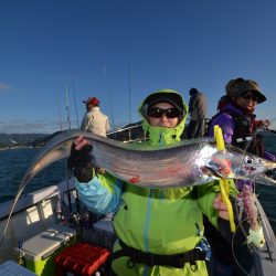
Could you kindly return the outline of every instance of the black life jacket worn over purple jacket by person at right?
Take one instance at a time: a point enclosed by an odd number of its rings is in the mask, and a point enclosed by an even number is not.
[[[257,121],[255,116],[237,115],[232,110],[221,110],[212,117],[210,121],[222,113],[229,114],[234,121],[232,145],[246,150],[255,156],[264,156],[264,141],[262,135],[256,135]],[[211,125],[211,124],[210,124]]]

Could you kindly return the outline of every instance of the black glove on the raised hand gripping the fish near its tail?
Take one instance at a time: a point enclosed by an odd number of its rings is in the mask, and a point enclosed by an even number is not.
[[[91,145],[86,145],[82,149],[76,150],[76,145],[72,144],[67,167],[73,171],[78,182],[87,183],[93,179],[94,162],[91,155],[92,149]]]

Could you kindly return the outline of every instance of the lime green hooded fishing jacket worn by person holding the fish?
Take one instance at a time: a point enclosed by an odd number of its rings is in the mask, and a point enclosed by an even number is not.
[[[157,93],[177,93],[170,89]],[[182,98],[183,100],[183,98]],[[142,127],[149,134],[148,146],[168,145],[180,140],[188,114],[183,100],[185,116],[176,128],[150,126],[142,116]],[[118,194],[121,189],[119,208],[114,216],[114,229],[117,236],[128,246],[142,252],[171,255],[193,250],[200,242],[204,227],[202,214],[216,226],[217,212],[213,209],[213,201],[217,193],[219,183],[212,182],[198,188],[147,189],[128,183],[115,184],[116,179],[107,173],[99,176],[94,185],[100,182],[109,190],[109,194]],[[116,187],[116,189],[115,189]],[[118,188],[119,187],[119,188]],[[89,197],[85,198],[86,201]],[[102,199],[103,200],[103,199]],[[108,202],[106,203],[108,205]],[[197,227],[197,225],[200,227]],[[119,250],[118,243],[114,250]],[[208,275],[205,263],[197,261],[198,269],[193,270],[190,263],[183,268],[136,264],[129,268],[128,257],[120,257],[113,262],[113,269],[117,275]]]

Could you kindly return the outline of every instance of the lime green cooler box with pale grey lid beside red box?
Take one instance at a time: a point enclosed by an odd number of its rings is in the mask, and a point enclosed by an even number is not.
[[[56,225],[26,240],[22,244],[26,268],[38,275],[54,275],[54,256],[75,238],[75,230]]]

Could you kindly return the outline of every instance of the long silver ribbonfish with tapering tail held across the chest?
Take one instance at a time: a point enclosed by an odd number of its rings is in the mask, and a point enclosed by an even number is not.
[[[226,145],[224,151],[219,151],[212,138],[152,148],[144,142],[124,144],[87,131],[67,130],[50,140],[36,155],[20,183],[10,215],[26,184],[46,166],[68,157],[72,142],[78,136],[89,140],[97,167],[128,183],[145,188],[200,185],[220,178],[253,179],[276,168],[276,162],[231,145]]]

